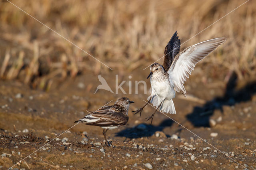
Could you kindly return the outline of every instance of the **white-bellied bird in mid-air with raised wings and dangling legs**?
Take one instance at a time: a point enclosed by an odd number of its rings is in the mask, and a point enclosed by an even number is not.
[[[188,75],[191,74],[191,71],[194,70],[196,63],[226,40],[226,37],[206,40],[192,45],[179,53],[180,40],[178,39],[176,31],[165,47],[163,65],[154,63],[150,66],[148,78],[150,77],[152,93],[148,97],[148,103],[152,103],[156,106],[156,111],[159,109],[161,112],[176,114],[172,101],[175,97],[175,92],[181,91],[186,97],[184,82],[186,78],[188,78]],[[148,103],[146,103],[146,105]],[[134,114],[140,112],[141,115],[146,105],[137,111],[133,111],[136,112]],[[156,111],[150,117],[146,118],[147,121],[151,119],[152,123]]]

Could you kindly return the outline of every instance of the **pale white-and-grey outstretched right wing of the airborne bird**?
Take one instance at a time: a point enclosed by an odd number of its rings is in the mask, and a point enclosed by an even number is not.
[[[202,60],[206,55],[211,53],[219,45],[227,40],[226,37],[214,38],[192,45],[180,52],[172,62],[168,74],[170,75],[170,83],[174,84],[177,92],[182,92],[186,97],[186,90],[183,86],[188,75],[194,70],[196,63]]]

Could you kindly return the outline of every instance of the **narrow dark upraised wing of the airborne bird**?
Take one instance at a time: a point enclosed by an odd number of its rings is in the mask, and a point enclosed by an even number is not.
[[[170,68],[174,57],[180,52],[180,39],[177,35],[176,31],[164,49],[163,66],[166,71]]]

